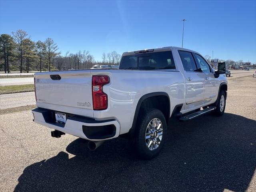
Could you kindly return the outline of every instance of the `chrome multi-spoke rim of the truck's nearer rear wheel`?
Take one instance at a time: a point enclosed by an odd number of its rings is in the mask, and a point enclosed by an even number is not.
[[[152,119],[145,132],[145,143],[150,150],[155,150],[160,145],[163,134],[162,122],[158,118]]]

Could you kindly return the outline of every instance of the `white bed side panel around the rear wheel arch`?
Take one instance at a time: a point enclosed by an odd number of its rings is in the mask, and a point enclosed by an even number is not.
[[[143,70],[93,70],[92,75],[110,76],[110,84],[103,87],[108,94],[108,109],[94,111],[94,118],[114,118],[120,123],[120,134],[132,127],[139,99],[148,93],[166,92],[172,110],[184,103],[184,78],[180,72]]]

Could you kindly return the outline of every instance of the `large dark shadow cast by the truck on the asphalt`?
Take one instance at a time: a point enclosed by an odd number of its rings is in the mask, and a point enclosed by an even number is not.
[[[14,191],[245,191],[256,168],[256,121],[230,113],[171,120],[162,152],[149,161],[123,138],[96,151],[78,138],[66,151],[75,156],[62,151],[26,167]]]

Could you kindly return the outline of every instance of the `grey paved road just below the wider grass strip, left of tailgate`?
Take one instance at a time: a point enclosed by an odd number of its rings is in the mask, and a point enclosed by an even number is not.
[[[0,109],[35,105],[35,92],[0,95]]]

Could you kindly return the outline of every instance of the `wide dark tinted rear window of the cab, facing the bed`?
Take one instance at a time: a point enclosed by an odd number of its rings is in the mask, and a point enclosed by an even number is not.
[[[150,52],[123,56],[119,69],[164,70],[175,69],[175,64],[171,51]]]

